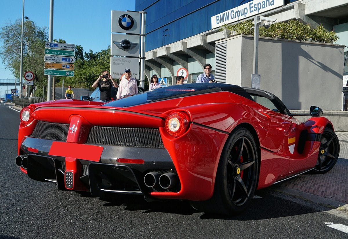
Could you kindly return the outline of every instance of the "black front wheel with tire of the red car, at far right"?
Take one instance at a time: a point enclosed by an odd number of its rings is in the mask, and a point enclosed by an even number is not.
[[[325,128],[322,134],[319,154],[313,173],[322,174],[329,172],[335,166],[340,154],[340,143],[335,132]]]

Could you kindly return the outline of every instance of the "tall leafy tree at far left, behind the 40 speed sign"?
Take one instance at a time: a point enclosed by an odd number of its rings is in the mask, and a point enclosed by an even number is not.
[[[17,19],[14,23],[1,28],[0,38],[3,41],[0,53],[3,63],[19,79],[21,61],[21,32],[22,20]],[[23,74],[31,71],[35,75],[34,85],[31,91],[38,86],[38,93],[42,91],[42,85],[47,85],[44,75],[44,50],[47,39],[47,28],[38,27],[31,20],[23,25]],[[46,78],[47,79],[47,78]],[[30,92],[31,93],[31,92]]]

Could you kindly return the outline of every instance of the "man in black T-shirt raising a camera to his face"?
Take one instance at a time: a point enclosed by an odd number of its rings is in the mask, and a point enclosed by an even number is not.
[[[100,102],[111,101],[111,86],[118,87],[118,84],[112,79],[109,71],[103,71],[98,79],[93,83],[92,87],[99,87],[100,90]]]

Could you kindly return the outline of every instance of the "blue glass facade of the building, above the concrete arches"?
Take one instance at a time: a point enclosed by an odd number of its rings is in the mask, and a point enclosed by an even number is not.
[[[211,17],[251,0],[136,0],[146,11],[146,46],[150,51],[211,30]]]

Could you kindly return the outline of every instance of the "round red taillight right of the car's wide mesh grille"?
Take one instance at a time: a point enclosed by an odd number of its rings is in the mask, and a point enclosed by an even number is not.
[[[175,137],[183,135],[189,126],[190,117],[184,112],[175,112],[166,117],[166,131]]]

